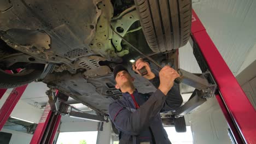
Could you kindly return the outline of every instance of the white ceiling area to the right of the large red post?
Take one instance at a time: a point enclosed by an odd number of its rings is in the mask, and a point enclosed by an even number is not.
[[[196,0],[193,9],[233,74],[256,41],[256,1]]]

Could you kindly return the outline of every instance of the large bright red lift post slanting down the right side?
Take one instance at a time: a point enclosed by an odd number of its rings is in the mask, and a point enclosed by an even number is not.
[[[191,32],[193,39],[200,47],[208,68],[210,68],[217,82],[220,97],[223,99],[232,122],[236,124],[241,139],[246,143],[256,143],[256,111],[236,81],[235,76],[231,73],[228,65],[226,65],[194,10]],[[220,105],[223,105],[223,103]],[[223,112],[225,113],[225,110]]]

